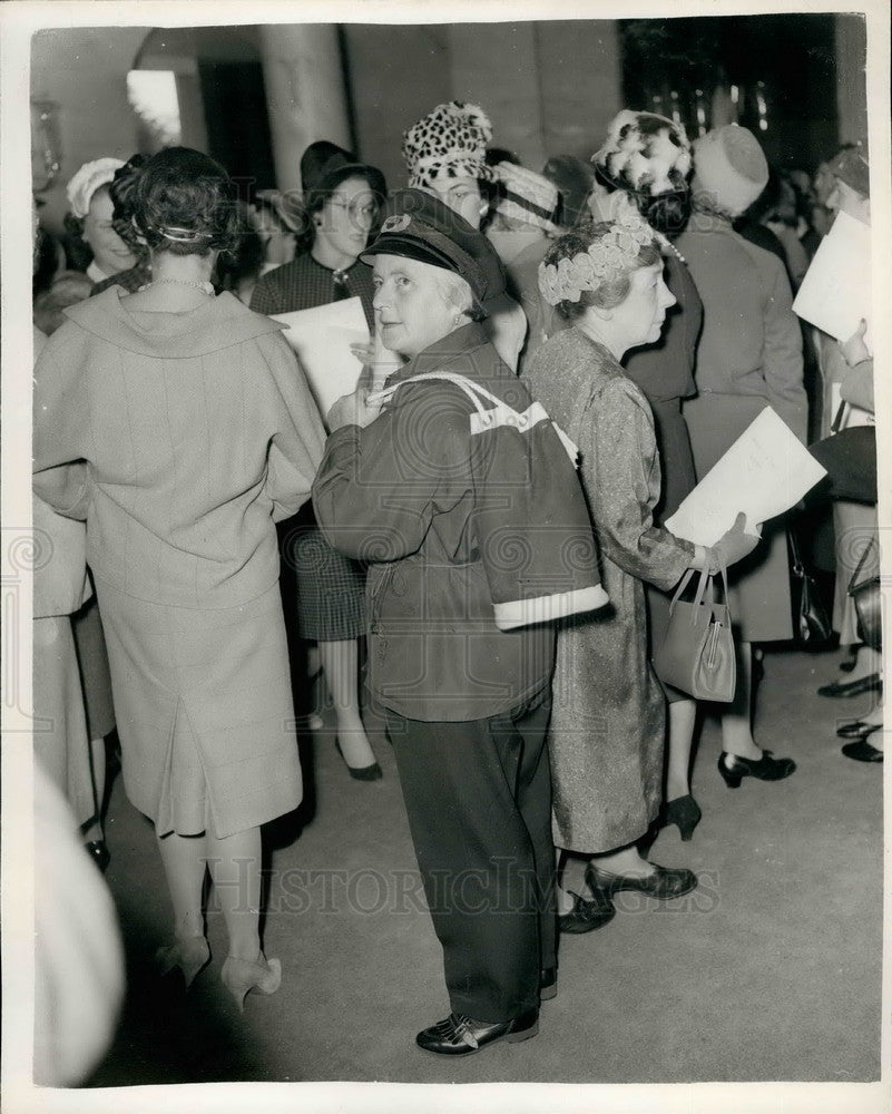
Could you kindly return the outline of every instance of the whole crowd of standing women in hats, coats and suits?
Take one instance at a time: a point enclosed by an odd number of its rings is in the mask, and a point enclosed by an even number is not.
[[[57,725],[45,761],[95,824],[89,740],[110,727],[85,722],[67,618],[95,589],[80,658],[107,654],[125,789],[155,825],[174,911],[160,969],[188,986],[210,961],[209,869],[243,1008],[282,979],[259,936],[261,828],[301,801],[294,695],[324,681],[350,774],[379,779],[364,663],[443,949],[451,1013],[416,1038],[440,1055],[533,1036],[559,932],[606,925],[618,891],[696,887],[647,858],[659,825],[687,840],[700,817],[697,703],[650,664],[687,570],[731,569],[718,773],[737,788],[795,770],[752,716],[754,647],[794,633],[784,522],[759,539],[738,516],[712,547],[666,526],[765,405],[808,438],[798,256],[770,221],[735,231],[765,156],[743,127],[692,145],[630,110],[591,166],[558,156],[539,174],[491,140],[481,109],[451,101],[405,131],[406,187],[388,194],[320,140],[300,194],[251,206],[187,148],[89,163],[68,188],[86,275],[57,276],[35,312],[50,334],[36,506],[68,576],[36,612],[55,624],[35,643],[38,711]],[[824,168],[860,219],[865,168],[861,148]],[[371,339],[355,392],[320,414],[267,314],[347,297]],[[868,414],[863,333],[822,343],[822,372]],[[879,693],[844,602],[856,672],[829,695]],[[850,756],[882,759],[879,724],[878,710],[849,726]],[[461,882],[445,901],[444,877]]]

